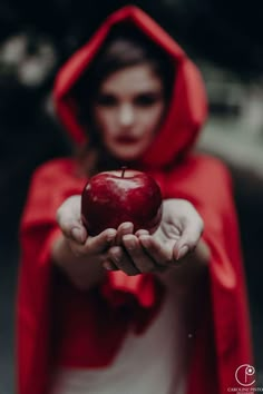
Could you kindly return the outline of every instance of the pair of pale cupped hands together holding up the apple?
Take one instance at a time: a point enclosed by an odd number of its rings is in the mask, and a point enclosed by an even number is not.
[[[160,226],[153,235],[145,229],[133,234],[133,224],[123,223],[117,230],[108,228],[91,237],[81,223],[80,199],[80,196],[68,198],[57,211],[65,239],[81,262],[67,265],[71,278],[85,275],[89,262],[127,275],[162,272],[187,257],[202,236],[203,220],[193,205],[183,199],[167,199]]]

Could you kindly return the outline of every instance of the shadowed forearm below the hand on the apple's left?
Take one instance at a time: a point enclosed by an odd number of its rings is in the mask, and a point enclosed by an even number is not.
[[[88,290],[105,278],[103,266],[98,262],[87,260],[87,257],[76,256],[62,235],[53,243],[51,256],[55,266],[80,290]]]

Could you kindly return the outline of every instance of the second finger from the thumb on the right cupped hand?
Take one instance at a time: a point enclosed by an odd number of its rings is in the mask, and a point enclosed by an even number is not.
[[[145,253],[139,239],[135,235],[125,235],[123,237],[123,244],[134,265],[140,273],[150,273],[154,270],[155,262]]]

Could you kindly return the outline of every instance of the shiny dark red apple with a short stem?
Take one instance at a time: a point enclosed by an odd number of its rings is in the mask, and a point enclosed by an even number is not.
[[[143,228],[153,234],[162,219],[162,200],[158,185],[145,173],[100,173],[82,190],[81,219],[92,236],[124,221],[132,221],[134,232]]]

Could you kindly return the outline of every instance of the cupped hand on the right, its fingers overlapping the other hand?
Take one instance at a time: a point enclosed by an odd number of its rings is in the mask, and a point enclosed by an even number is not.
[[[203,228],[203,220],[191,203],[164,200],[162,223],[156,233],[149,235],[142,229],[134,235],[132,224],[121,224],[117,232],[119,246],[109,249],[108,262],[113,263],[113,269],[121,269],[127,275],[164,270],[178,265],[195,250]]]

